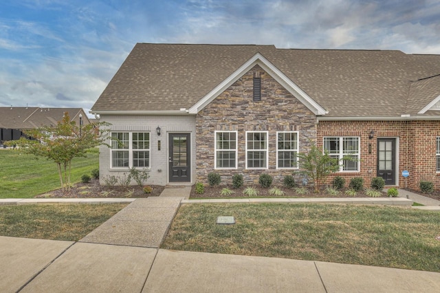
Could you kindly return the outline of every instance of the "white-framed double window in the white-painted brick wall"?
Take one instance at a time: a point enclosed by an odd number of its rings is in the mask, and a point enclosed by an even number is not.
[[[148,168],[149,166],[150,133],[111,133],[111,168]]]

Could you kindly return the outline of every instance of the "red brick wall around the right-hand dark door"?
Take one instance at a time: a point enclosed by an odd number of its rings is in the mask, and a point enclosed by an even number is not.
[[[369,139],[372,130],[374,138]],[[371,179],[377,176],[377,138],[396,138],[396,185],[403,188],[407,184],[408,188],[419,189],[420,180],[427,180],[440,188],[440,177],[435,171],[436,138],[439,135],[438,121],[321,121],[317,127],[317,144],[322,149],[325,136],[359,136],[360,172],[338,172],[335,175],[345,177],[347,183],[351,177],[364,177],[364,186],[370,186]],[[401,176],[404,170],[410,172],[407,180]]]

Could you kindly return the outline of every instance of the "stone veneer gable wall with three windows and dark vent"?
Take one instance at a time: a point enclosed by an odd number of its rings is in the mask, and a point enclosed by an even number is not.
[[[253,101],[253,78],[261,76],[261,101]],[[236,169],[214,169],[214,131],[237,131]],[[245,131],[268,131],[268,169],[246,169]],[[208,182],[208,173],[219,173],[223,183],[243,174],[245,182],[258,183],[268,173],[274,182],[294,169],[276,169],[276,132],[298,131],[299,151],[309,150],[316,139],[316,116],[270,74],[256,65],[197,113],[197,182]]]

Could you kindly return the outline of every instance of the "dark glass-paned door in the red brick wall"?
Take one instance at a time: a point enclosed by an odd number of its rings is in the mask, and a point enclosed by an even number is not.
[[[396,184],[396,140],[377,139],[377,177],[385,180],[385,185]]]

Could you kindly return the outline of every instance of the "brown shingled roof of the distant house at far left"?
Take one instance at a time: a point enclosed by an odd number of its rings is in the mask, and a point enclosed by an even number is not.
[[[56,126],[64,113],[76,124],[89,124],[82,108],[0,107],[0,142],[18,140],[26,136],[26,130]]]

